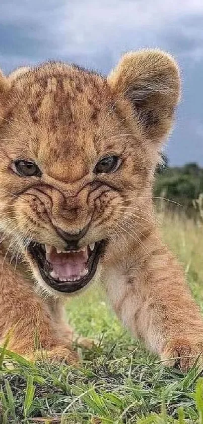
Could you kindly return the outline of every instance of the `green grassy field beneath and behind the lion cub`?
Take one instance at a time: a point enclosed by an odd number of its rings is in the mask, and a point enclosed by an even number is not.
[[[166,215],[160,215],[160,225],[203,309],[203,228]],[[32,364],[3,351],[1,423],[203,423],[203,379],[197,370],[183,375],[165,368],[123,330],[99,287],[74,298],[67,315],[77,332],[95,338],[98,346],[78,349],[78,368]]]

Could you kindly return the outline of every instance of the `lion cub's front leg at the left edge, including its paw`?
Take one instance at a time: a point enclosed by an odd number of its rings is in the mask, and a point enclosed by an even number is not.
[[[9,349],[22,355],[46,356],[73,363],[78,355],[72,348],[73,332],[34,292],[31,281],[22,278],[9,264],[0,277],[0,338],[4,343],[10,332]]]

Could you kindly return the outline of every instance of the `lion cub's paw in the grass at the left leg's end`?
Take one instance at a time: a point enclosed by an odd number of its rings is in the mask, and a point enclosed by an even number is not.
[[[65,362],[68,365],[79,362],[77,352],[65,346],[57,346],[51,350],[36,350],[30,355],[30,359],[34,361],[48,360],[53,362]]]

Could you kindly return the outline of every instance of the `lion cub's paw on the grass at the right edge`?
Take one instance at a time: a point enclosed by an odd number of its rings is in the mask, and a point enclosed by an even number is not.
[[[200,342],[196,342],[195,337],[170,341],[165,346],[161,359],[166,366],[179,367],[183,372],[187,372],[197,359],[198,366],[203,367],[203,337]]]

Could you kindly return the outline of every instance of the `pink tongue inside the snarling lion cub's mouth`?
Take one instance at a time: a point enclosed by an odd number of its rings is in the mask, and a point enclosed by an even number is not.
[[[57,253],[55,247],[46,247],[46,260],[51,264],[52,278],[61,281],[76,280],[88,273],[86,262],[88,260],[88,248],[79,252]]]

